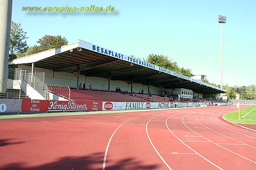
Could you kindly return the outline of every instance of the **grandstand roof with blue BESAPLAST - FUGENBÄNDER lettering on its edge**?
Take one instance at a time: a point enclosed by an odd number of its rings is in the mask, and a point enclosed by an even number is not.
[[[35,67],[53,71],[80,70],[80,74],[87,77],[108,78],[110,75],[111,80],[133,80],[133,83],[163,85],[164,88],[186,88],[204,94],[227,92],[191,77],[82,40],[14,59],[9,62],[9,65],[31,65],[33,62]]]

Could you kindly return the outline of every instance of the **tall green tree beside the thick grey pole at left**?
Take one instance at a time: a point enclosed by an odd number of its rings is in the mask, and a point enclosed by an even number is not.
[[[15,59],[17,53],[22,53],[28,48],[26,39],[27,32],[23,31],[20,23],[11,23],[9,60]]]

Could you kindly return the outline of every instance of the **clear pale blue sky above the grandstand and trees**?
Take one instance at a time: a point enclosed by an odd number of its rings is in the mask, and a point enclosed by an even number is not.
[[[114,12],[25,12],[23,6],[114,6]],[[256,84],[255,0],[13,0],[12,20],[27,31],[28,45],[47,35],[79,39],[126,55],[163,54],[193,74],[220,84],[220,24],[224,84]]]

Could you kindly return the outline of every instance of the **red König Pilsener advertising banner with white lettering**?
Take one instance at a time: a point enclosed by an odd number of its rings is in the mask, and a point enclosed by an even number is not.
[[[21,112],[102,111],[102,102],[23,99]]]

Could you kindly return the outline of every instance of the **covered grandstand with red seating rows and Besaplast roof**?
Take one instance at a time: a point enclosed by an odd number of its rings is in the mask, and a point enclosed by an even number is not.
[[[13,85],[31,99],[115,101],[115,102],[170,102],[161,97],[163,91],[172,96],[192,99],[203,94],[226,92],[199,80],[174,71],[126,56],[97,45],[79,40],[59,48],[21,57],[9,62],[17,65]],[[78,90],[80,83],[93,91]],[[14,87],[15,86],[15,87]],[[135,92],[136,97],[115,93]],[[138,94],[144,89],[144,95]],[[153,99],[148,99],[151,91]]]

